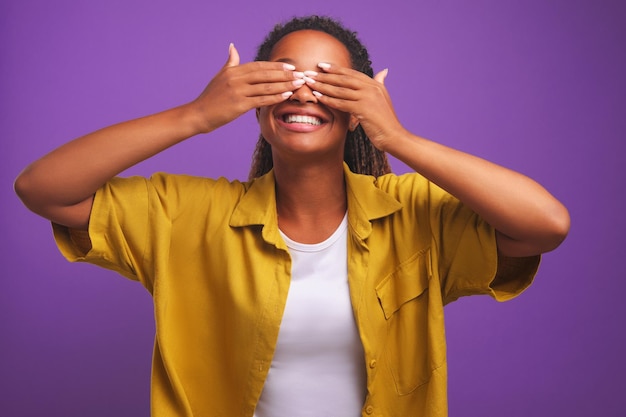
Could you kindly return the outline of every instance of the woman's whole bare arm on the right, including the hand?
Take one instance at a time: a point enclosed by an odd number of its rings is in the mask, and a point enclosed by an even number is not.
[[[496,229],[501,255],[522,257],[555,249],[565,239],[567,209],[532,179],[408,132],[398,121],[383,81],[331,66],[310,83],[319,100],[352,114],[372,143],[445,189]]]

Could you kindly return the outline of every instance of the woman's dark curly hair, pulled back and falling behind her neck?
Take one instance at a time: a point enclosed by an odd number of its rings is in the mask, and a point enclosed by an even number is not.
[[[374,76],[369,53],[358,39],[356,32],[348,30],[339,21],[324,16],[296,17],[286,23],[274,26],[274,29],[257,49],[254,60],[268,61],[272,49],[278,41],[299,30],[317,30],[333,36],[348,49],[353,69],[367,74],[369,77]],[[387,156],[374,147],[360,125],[354,131],[348,131],[346,135],[344,161],[351,171],[358,174],[378,177],[391,172]],[[273,166],[272,147],[261,135],[252,156],[249,178],[260,177],[269,172]]]

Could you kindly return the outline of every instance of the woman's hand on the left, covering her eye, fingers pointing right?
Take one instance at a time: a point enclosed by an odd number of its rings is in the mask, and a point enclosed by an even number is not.
[[[228,61],[202,94],[190,103],[200,116],[202,132],[223,126],[249,110],[286,100],[304,84],[304,74],[283,62],[255,61],[239,64],[233,44]]]

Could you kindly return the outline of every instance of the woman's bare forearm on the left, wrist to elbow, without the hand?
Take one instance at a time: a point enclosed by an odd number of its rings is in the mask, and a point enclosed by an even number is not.
[[[49,212],[79,204],[111,177],[199,133],[195,118],[186,105],[85,135],[29,165],[16,191],[32,211],[50,218]]]

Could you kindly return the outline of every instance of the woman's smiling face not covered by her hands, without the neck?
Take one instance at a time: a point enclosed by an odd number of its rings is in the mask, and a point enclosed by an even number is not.
[[[288,62],[303,77],[303,85],[287,101],[258,111],[261,134],[272,146],[275,169],[279,172],[284,169],[282,166],[291,165],[300,170],[306,165],[323,171],[334,167],[337,171],[342,165],[346,132],[352,117],[349,113],[319,105],[319,94],[314,94],[317,92],[315,77],[320,63],[332,62],[349,68],[348,50],[326,33],[302,30],[282,38],[274,46],[270,61]],[[308,123],[308,120],[314,123]],[[352,124],[356,125],[356,121]],[[340,210],[341,215],[344,209]]]

